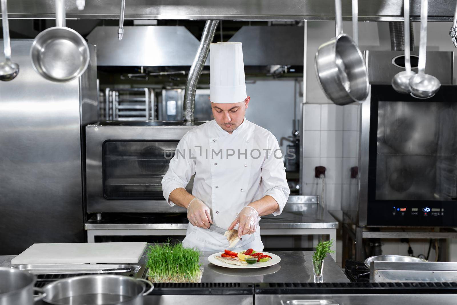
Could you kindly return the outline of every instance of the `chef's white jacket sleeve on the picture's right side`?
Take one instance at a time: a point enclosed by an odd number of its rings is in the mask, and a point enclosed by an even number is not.
[[[286,171],[282,161],[282,152],[279,148],[278,140],[271,135],[268,139],[268,148],[271,149],[266,154],[261,169],[263,195],[273,197],[279,205],[279,211],[273,215],[282,213],[289,198],[290,189],[287,184]]]

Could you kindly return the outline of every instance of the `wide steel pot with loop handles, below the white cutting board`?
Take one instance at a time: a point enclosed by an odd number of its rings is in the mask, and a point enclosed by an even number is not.
[[[83,275],[48,284],[43,301],[53,305],[143,305],[143,296],[152,289],[154,286],[142,278]]]

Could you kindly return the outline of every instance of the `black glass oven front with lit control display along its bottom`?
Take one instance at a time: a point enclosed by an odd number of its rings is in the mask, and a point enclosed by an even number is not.
[[[371,87],[367,225],[457,225],[457,86],[429,99]]]

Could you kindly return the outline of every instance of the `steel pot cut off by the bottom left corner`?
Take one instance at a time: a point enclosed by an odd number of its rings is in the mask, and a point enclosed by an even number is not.
[[[18,269],[0,268],[0,305],[33,305],[46,296],[42,289],[34,288],[35,276]],[[33,297],[33,291],[38,292]]]

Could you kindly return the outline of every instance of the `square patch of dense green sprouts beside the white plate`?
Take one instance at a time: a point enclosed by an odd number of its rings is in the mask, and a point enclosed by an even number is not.
[[[200,252],[181,243],[151,245],[147,251],[148,278],[153,283],[198,283],[201,280]]]

